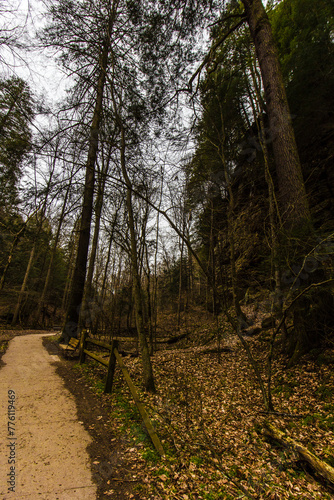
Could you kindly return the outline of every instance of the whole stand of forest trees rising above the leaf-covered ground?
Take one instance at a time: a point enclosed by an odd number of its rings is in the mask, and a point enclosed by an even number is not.
[[[240,333],[269,294],[291,359],[326,343],[332,2],[45,5],[34,44],[72,86],[41,111],[0,82],[2,321],[136,328],[149,367],[160,314],[199,306]]]

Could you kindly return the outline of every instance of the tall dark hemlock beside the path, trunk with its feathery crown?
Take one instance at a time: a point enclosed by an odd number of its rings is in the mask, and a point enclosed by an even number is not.
[[[192,24],[195,14],[199,17],[197,7],[186,9],[188,25]],[[148,123],[151,113],[163,111],[162,99],[168,88],[165,75],[169,75],[172,91],[171,75],[182,72],[180,56],[185,49],[182,44],[184,20],[179,18],[175,2],[152,0],[87,0],[79,3],[60,0],[49,2],[49,14],[50,24],[41,37],[43,45],[60,53],[63,67],[75,80],[70,103],[74,109],[73,117],[75,110],[81,116],[86,110],[86,117],[90,117],[79,243],[64,329],[64,336],[68,339],[77,335],[83,298],[101,120],[108,108],[106,86],[113,88],[117,99],[122,96],[134,124],[142,119]],[[178,58],[173,60],[171,54]],[[136,84],[131,89],[133,82]],[[86,129],[87,126],[86,120]],[[78,127],[81,127],[80,123]],[[126,127],[129,130],[128,123]],[[84,135],[83,127],[82,130]],[[130,130],[130,142],[135,136],[135,130]],[[145,385],[149,386],[146,382]]]

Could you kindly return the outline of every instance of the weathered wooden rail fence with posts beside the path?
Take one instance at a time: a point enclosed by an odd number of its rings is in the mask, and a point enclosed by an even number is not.
[[[143,405],[143,403],[140,401],[139,394],[137,392],[137,389],[134,385],[134,383],[131,380],[130,374],[126,368],[126,366],[123,363],[123,359],[121,355],[118,352],[118,343],[121,341],[126,341],[126,342],[137,342],[136,338],[133,337],[116,337],[115,339],[112,340],[111,344],[107,344],[106,342],[101,342],[100,340],[95,340],[92,338],[89,338],[89,333],[87,330],[83,330],[81,334],[81,339],[80,339],[80,364],[84,363],[86,360],[86,356],[89,356],[90,358],[94,359],[101,365],[104,365],[107,367],[108,372],[107,372],[107,379],[106,379],[106,384],[104,388],[105,393],[111,393],[112,391],[112,386],[113,386],[113,381],[114,381],[114,373],[115,373],[115,367],[116,367],[116,361],[118,362],[123,376],[125,378],[125,381],[130,389],[130,392],[132,394],[132,397],[134,399],[134,402],[138,408],[138,411],[141,415],[141,418],[143,419],[143,422],[145,424],[145,427],[147,429],[147,432],[152,440],[152,443],[157,450],[157,452],[161,455],[164,456],[165,452],[162,447],[162,444],[160,442],[160,439],[152,425],[152,422],[147,414],[147,411]],[[103,359],[94,352],[91,352],[87,349],[87,344],[93,344],[99,347],[103,347],[104,349],[107,349],[110,351],[110,357],[109,360]]]

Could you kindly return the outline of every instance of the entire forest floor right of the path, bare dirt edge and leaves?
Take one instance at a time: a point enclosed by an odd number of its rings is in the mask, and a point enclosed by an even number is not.
[[[166,316],[163,325],[162,335],[172,336],[173,318]],[[160,347],[152,357],[156,394],[140,389],[140,359],[124,358],[164,446],[163,458],[150,443],[119,368],[109,395],[103,393],[106,369],[95,361],[58,364],[95,443],[91,459],[98,498],[334,499],[333,485],[263,432],[269,421],[334,466],[334,350],[313,353],[287,369],[277,348],[277,413],[268,415],[229,325],[220,325],[221,345],[230,348],[220,355],[203,351],[216,345],[217,328],[210,318],[193,316],[182,332],[188,334],[185,339]],[[269,337],[267,330],[247,339],[263,377]],[[45,342],[55,352],[56,338]]]

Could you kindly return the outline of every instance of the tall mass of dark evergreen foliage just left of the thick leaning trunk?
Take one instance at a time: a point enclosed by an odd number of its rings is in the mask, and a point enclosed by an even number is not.
[[[240,9],[239,4],[231,4],[226,17],[240,15]],[[231,17],[217,24],[212,44],[235,23],[236,18]],[[186,167],[188,204],[197,217],[199,252],[216,274],[216,284],[223,288],[231,282],[229,226],[240,285],[256,286],[264,271],[270,271],[263,234],[268,187],[254,123],[262,102],[255,96],[254,67],[249,32],[239,28],[219,46],[201,83],[197,147]]]

